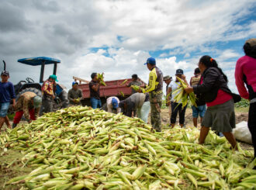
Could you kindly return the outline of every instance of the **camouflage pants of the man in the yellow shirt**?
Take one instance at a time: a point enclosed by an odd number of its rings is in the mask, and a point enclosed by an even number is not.
[[[161,131],[161,105],[163,93],[154,94],[150,93],[150,107],[151,107],[151,125],[157,132]]]

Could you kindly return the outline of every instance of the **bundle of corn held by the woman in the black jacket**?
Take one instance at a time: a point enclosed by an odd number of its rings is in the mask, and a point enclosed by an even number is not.
[[[177,77],[177,79],[181,83],[181,85],[179,85],[178,89],[176,89],[174,92],[172,92],[172,95],[174,95],[175,102],[177,102],[178,104],[182,103],[182,108],[184,108],[185,105],[187,105],[189,101],[191,102],[191,105],[195,105],[195,107],[197,107],[197,105],[195,103],[196,97],[195,97],[194,92],[189,93],[189,95],[188,95],[184,90],[184,88],[187,88],[187,85],[185,84],[185,82],[181,78]],[[188,96],[189,96],[189,98],[188,98]]]

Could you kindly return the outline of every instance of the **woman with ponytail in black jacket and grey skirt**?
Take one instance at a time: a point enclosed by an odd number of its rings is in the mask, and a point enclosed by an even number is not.
[[[237,149],[237,141],[232,129],[236,126],[234,100],[230,88],[227,87],[227,76],[218,67],[216,60],[208,55],[199,60],[199,69],[202,73],[199,85],[185,88],[185,92],[195,92],[206,100],[206,114],[202,119],[199,143],[204,143],[209,133],[209,127],[222,132]]]

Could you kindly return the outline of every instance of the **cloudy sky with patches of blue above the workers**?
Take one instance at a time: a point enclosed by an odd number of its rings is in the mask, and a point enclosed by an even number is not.
[[[147,57],[164,75],[182,68],[189,79],[208,54],[237,91],[234,67],[244,41],[256,36],[255,9],[255,0],[1,0],[0,58],[14,84],[40,76],[39,66],[18,59],[60,59],[58,80],[71,88],[73,76],[90,80],[92,72],[105,72],[106,80],[137,73],[147,81]],[[44,79],[52,72],[47,65]]]

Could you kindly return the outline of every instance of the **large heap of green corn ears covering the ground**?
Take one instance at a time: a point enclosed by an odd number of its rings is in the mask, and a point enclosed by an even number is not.
[[[1,134],[21,150],[30,174],[7,184],[28,189],[247,189],[256,187],[251,151],[230,150],[223,137],[175,127],[154,133],[137,118],[89,107],[50,112]],[[252,162],[251,162],[252,161]]]

